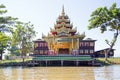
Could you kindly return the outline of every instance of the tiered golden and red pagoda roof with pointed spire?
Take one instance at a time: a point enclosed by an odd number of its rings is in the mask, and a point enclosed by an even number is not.
[[[50,28],[50,33],[47,37],[70,37],[70,36],[78,36],[85,37],[85,34],[76,33],[77,28],[73,28],[73,24],[70,22],[70,19],[64,12],[64,6],[62,8],[62,13],[56,20],[54,24],[54,28]],[[45,35],[42,36],[46,37]]]

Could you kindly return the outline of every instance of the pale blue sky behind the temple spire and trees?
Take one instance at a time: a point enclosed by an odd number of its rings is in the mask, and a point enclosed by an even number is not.
[[[120,0],[0,0],[6,6],[6,15],[17,17],[20,21],[31,22],[37,32],[35,39],[41,38],[54,28],[64,5],[65,14],[69,16],[77,32],[85,32],[85,38],[96,40],[95,51],[108,48],[105,39],[111,40],[112,32],[101,34],[99,29],[88,30],[90,14],[98,7],[110,7],[113,3],[120,7]],[[120,57],[120,36],[114,47],[115,57]]]

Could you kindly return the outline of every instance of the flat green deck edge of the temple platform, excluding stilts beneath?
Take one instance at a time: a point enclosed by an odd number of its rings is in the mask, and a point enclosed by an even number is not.
[[[35,61],[61,61],[61,60],[65,60],[65,61],[92,61],[94,60],[94,58],[92,58],[91,56],[88,55],[82,55],[82,56],[71,56],[71,55],[64,55],[64,56],[37,56],[37,57],[33,57],[33,60]]]

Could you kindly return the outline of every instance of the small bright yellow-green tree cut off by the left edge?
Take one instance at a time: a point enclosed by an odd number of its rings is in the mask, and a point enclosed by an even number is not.
[[[0,55],[2,60],[2,55],[4,53],[4,50],[8,46],[8,41],[10,40],[10,37],[8,37],[6,34],[0,32]]]

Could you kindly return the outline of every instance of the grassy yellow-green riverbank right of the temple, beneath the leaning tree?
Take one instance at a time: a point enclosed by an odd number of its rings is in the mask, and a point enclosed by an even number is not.
[[[120,57],[108,58],[107,61],[105,61],[105,58],[97,58],[97,60],[105,63],[105,65],[120,64]]]

